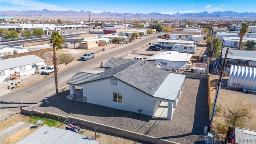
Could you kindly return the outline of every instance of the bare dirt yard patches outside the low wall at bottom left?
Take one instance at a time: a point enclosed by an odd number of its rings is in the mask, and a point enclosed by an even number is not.
[[[0,131],[13,126],[14,124],[18,123],[18,122],[28,122],[28,116],[24,116],[21,114],[15,114],[12,116],[12,118],[1,122],[0,123]],[[3,140],[3,144],[14,144],[20,140],[22,140],[22,138],[28,136],[29,134],[31,134],[32,132],[34,132],[35,130],[39,129],[40,127],[36,128],[36,129],[21,129],[20,131],[16,132],[15,134],[7,137],[6,139]],[[62,124],[61,126],[59,126],[58,128],[66,128],[66,124]],[[94,138],[94,134],[95,132],[92,130],[86,130],[86,129],[81,129],[81,131],[84,131],[84,133],[82,135],[84,136],[88,136],[90,138]],[[140,142],[136,142],[133,140],[128,140],[125,137],[119,137],[119,136],[112,136],[112,135],[108,135],[108,134],[103,134],[100,132],[96,133],[96,140],[101,142],[101,144],[142,144]]]

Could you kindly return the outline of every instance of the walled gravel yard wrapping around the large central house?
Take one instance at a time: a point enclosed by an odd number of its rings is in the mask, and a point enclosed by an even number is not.
[[[204,144],[204,126],[208,124],[207,81],[186,79],[172,120],[116,110],[66,99],[69,90],[39,103],[34,110],[73,116],[181,144]],[[32,110],[33,107],[28,107]],[[127,116],[125,116],[128,114]],[[100,128],[97,129],[100,131]]]

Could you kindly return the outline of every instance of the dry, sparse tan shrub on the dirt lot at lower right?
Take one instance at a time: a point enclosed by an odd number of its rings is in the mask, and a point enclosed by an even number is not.
[[[242,102],[244,103],[244,100],[241,100],[239,104],[234,104],[233,108],[227,108],[226,124],[243,128],[246,126],[245,119],[252,118],[252,104],[242,104]]]

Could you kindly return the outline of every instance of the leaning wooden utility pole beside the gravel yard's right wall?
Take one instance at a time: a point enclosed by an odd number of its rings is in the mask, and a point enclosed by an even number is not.
[[[213,102],[213,106],[212,106],[212,112],[211,112],[211,117],[210,117],[210,122],[208,124],[207,132],[212,131],[212,122],[213,122],[213,118],[214,118],[214,114],[215,114],[215,110],[216,110],[216,106],[217,106],[217,100],[218,100],[218,96],[219,96],[219,92],[220,92],[221,79],[222,79],[222,74],[224,72],[224,68],[225,68],[225,64],[226,64],[228,49],[229,48],[227,48],[227,50],[226,50],[226,54],[225,54],[225,57],[224,57],[224,60],[223,60],[223,63],[222,63],[222,68],[221,68],[221,71],[220,71],[220,78],[219,78],[219,81],[218,81],[218,86],[217,86],[216,94],[215,94],[215,97],[214,97],[214,102]]]

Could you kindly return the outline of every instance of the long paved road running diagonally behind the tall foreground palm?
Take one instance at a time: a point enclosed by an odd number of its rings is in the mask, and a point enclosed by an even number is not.
[[[95,65],[100,66],[100,62],[103,62],[111,57],[122,55],[126,52],[130,52],[133,49],[140,48],[142,45],[155,40],[157,35],[143,37],[135,42],[124,44],[121,48],[116,50],[105,51],[106,54],[97,56],[94,59],[80,62],[70,68],[59,72],[59,88],[66,86],[66,82],[76,74],[76,72],[84,71],[87,68],[92,68]],[[21,88],[9,94],[0,97],[0,120],[4,119],[4,115],[20,112],[20,106],[30,106],[36,104],[44,99],[44,96],[54,93],[55,81],[54,75],[44,78],[30,86]]]

